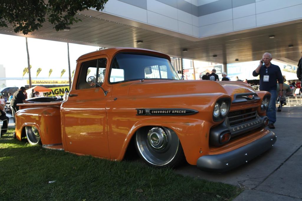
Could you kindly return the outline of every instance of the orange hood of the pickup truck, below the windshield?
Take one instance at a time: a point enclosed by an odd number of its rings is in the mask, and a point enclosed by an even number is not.
[[[129,86],[129,85],[128,85]],[[231,96],[239,93],[255,93],[249,84],[241,81],[210,81],[210,80],[165,80],[132,83],[128,95],[180,95],[198,93],[224,93]]]

